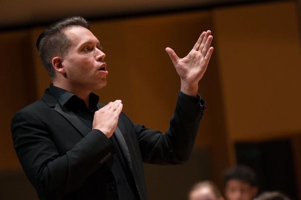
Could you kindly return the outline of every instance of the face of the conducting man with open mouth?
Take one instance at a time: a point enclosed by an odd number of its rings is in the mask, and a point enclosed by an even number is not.
[[[71,40],[68,53],[62,61],[68,86],[83,91],[104,87],[108,71],[98,39],[82,26],[69,27],[65,34]]]

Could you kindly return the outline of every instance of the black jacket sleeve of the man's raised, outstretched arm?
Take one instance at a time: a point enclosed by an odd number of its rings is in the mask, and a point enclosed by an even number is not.
[[[181,164],[189,159],[205,101],[196,102],[191,96],[179,93],[176,108],[166,133],[154,131],[144,125],[135,125],[141,156],[144,162],[155,164]]]

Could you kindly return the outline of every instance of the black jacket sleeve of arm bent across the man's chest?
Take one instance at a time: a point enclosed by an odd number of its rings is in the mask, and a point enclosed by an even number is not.
[[[21,110],[12,120],[12,136],[21,165],[40,198],[60,199],[79,187],[115,148],[101,131],[91,130],[60,155],[48,125],[35,113]]]

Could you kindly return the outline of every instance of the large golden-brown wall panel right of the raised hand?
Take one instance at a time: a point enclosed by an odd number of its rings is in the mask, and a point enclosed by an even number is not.
[[[213,16],[230,139],[300,132],[301,59],[295,3],[222,8]]]

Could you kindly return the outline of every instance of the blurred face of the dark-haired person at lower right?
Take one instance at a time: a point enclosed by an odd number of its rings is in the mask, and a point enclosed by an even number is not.
[[[251,200],[257,194],[257,187],[239,179],[230,179],[225,186],[227,200]]]

